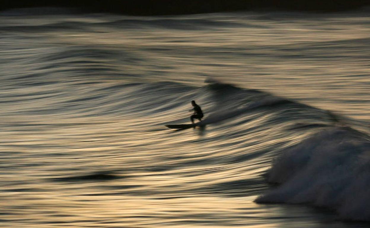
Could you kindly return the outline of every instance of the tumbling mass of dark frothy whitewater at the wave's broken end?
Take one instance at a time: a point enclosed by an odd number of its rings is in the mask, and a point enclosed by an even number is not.
[[[309,203],[344,220],[370,221],[370,140],[350,127],[331,127],[284,151],[268,181],[279,186],[257,203]]]

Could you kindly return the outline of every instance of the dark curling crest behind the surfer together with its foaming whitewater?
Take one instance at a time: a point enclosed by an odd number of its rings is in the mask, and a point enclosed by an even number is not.
[[[204,125],[255,112],[259,118],[265,118],[263,113],[273,116],[272,123],[266,123],[270,127],[283,124],[288,132],[309,132],[274,155],[267,174],[274,185],[257,203],[312,204],[331,208],[342,220],[370,221],[369,135],[328,110],[214,79],[206,82],[218,102]]]

